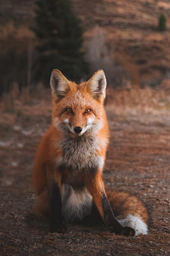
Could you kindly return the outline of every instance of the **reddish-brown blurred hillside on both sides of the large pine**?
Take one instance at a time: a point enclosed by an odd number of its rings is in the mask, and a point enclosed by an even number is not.
[[[156,0],[72,0],[82,20],[85,44],[98,24],[106,33],[113,58],[123,66],[134,85],[170,87],[169,1]],[[28,38],[36,41],[29,30],[33,25],[34,1],[1,0],[1,51],[11,47],[28,48]],[[164,13],[168,29],[157,30],[158,17]],[[11,40],[12,39],[12,40]],[[1,53],[1,52],[0,52]]]

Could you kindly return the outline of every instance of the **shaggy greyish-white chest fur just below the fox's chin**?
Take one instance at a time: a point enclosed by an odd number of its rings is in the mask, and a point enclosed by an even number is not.
[[[56,164],[72,171],[102,169],[104,159],[97,153],[101,146],[101,142],[96,137],[66,137],[60,142],[63,154],[57,159]]]

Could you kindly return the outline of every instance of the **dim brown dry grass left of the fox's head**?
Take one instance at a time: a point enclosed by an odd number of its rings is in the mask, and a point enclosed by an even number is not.
[[[5,93],[0,100],[0,124],[14,125],[18,118],[35,117],[43,114],[44,117],[51,112],[50,90],[38,85],[23,88],[18,91],[17,85],[11,88],[10,93]]]

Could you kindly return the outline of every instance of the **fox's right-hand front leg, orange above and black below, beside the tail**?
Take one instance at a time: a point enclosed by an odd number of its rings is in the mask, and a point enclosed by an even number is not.
[[[101,175],[97,175],[96,178],[92,178],[91,182],[86,182],[86,187],[93,196],[94,203],[96,204],[103,222],[106,223],[108,230],[115,233],[116,235],[135,235],[135,230],[132,228],[125,227],[123,228],[118,220],[115,219],[113,210],[108,199],[106,197],[106,192],[103,184]]]

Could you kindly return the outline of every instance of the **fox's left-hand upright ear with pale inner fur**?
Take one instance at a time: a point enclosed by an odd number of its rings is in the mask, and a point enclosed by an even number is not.
[[[70,90],[70,82],[62,75],[60,70],[54,69],[51,73],[50,86],[52,97],[56,100],[61,100],[67,95]]]

